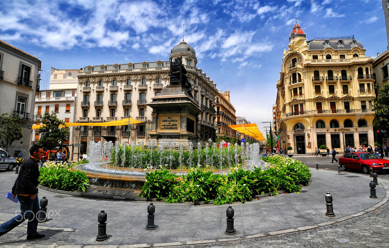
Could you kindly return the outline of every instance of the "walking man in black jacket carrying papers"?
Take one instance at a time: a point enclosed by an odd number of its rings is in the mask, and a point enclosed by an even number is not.
[[[12,194],[18,196],[21,213],[0,225],[0,236],[11,231],[25,220],[27,223],[27,239],[43,238],[44,234],[37,232],[38,227],[38,178],[39,166],[37,161],[42,157],[43,149],[39,145],[30,148],[31,157],[22,165],[18,178],[12,187]]]

